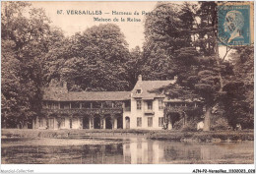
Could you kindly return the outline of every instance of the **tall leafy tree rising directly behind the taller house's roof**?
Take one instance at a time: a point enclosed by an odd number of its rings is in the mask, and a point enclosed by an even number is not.
[[[177,9],[177,5],[160,2],[153,15],[146,17],[143,77],[147,80],[172,79],[177,71],[173,52],[187,45],[187,36],[177,35],[183,27]]]

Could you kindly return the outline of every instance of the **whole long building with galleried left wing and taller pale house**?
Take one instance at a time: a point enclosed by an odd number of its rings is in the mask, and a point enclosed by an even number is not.
[[[197,101],[170,99],[161,87],[172,81],[143,81],[132,91],[68,91],[62,87],[43,88],[41,114],[32,120],[32,129],[172,129],[184,120],[185,111]]]

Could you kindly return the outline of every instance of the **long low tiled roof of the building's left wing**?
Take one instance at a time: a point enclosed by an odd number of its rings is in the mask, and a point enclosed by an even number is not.
[[[61,91],[43,89],[43,100],[56,101],[121,101],[130,99],[130,91]]]

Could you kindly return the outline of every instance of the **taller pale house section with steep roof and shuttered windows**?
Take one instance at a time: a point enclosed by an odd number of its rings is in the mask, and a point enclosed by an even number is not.
[[[131,110],[124,110],[125,129],[160,130],[164,121],[165,94],[154,92],[154,89],[174,84],[172,81],[143,81],[139,76],[138,82],[131,91]]]

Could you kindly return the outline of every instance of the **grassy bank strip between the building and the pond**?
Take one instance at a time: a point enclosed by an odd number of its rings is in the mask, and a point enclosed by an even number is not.
[[[172,130],[23,130],[2,129],[1,139],[10,138],[51,138],[51,139],[87,139],[101,138],[134,138],[142,137],[151,140],[174,142],[243,142],[254,141],[253,130],[181,132]]]

